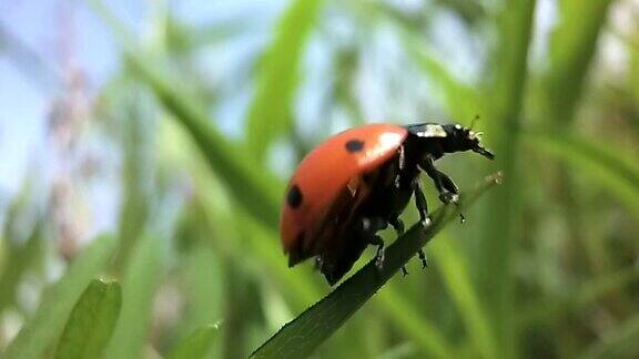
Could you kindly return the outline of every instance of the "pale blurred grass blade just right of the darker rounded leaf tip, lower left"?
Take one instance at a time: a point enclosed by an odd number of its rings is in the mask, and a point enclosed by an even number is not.
[[[149,332],[153,298],[166,261],[166,240],[143,235],[131,254],[122,280],[122,311],[105,351],[106,358],[140,358]]]

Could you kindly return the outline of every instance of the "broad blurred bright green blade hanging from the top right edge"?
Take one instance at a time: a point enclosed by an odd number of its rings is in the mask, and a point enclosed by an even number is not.
[[[550,65],[545,75],[544,95],[549,119],[555,123],[571,122],[586,73],[597,48],[611,0],[559,1],[558,25],[550,38]],[[575,17],[575,13],[579,13]]]

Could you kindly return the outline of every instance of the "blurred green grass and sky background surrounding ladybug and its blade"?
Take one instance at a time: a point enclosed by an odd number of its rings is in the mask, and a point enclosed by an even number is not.
[[[316,357],[639,357],[639,1],[7,2],[0,107],[7,358],[248,356],[331,290],[280,246],[303,155],[475,115],[497,161],[438,165],[504,184]]]

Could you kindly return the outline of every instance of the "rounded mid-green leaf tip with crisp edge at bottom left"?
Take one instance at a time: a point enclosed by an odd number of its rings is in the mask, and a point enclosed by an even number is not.
[[[115,328],[121,305],[120,284],[91,281],[71,311],[55,358],[100,358]]]

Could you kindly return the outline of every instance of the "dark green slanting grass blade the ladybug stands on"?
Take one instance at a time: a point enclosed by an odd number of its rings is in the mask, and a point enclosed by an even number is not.
[[[308,356],[335,332],[366,300],[415,256],[444,226],[500,182],[500,174],[486,178],[475,191],[463,194],[458,206],[443,206],[432,214],[432,224],[413,226],[386,249],[384,267],[374,260],[346,279],[328,296],[306,309],[253,352],[252,358],[298,358]]]

